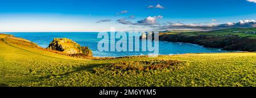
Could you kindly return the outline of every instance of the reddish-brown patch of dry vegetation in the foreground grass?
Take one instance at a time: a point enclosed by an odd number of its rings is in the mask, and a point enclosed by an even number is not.
[[[112,72],[150,72],[153,70],[179,70],[187,66],[188,63],[179,60],[151,60],[151,61],[123,61],[121,63],[112,63],[109,65],[94,68],[94,73]]]

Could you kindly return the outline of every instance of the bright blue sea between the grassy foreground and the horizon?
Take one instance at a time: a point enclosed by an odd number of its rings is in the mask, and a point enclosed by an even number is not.
[[[48,44],[53,40],[53,38],[70,38],[73,41],[79,43],[81,46],[88,46],[93,51],[93,56],[96,57],[121,57],[121,56],[134,56],[134,55],[148,55],[151,52],[139,51],[121,51],[121,52],[105,52],[98,51],[97,44],[101,39],[97,38],[98,33],[84,32],[84,33],[7,33],[13,34],[15,37],[21,37],[28,39],[41,47],[48,47]],[[117,40],[118,41],[118,40]],[[176,42],[166,42],[159,41],[159,54],[160,55],[174,55],[174,54],[186,54],[186,53],[213,53],[213,52],[229,52],[222,51],[220,48],[205,48],[203,46],[191,43],[176,43]]]

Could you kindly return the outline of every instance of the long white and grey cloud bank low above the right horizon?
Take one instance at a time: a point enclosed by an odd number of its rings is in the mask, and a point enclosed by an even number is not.
[[[139,20],[136,23],[133,23],[126,18],[117,20],[117,23],[125,24],[125,25],[143,25],[148,26],[149,29],[158,29],[158,30],[172,30],[172,29],[191,29],[191,30],[217,30],[217,29],[225,29],[225,28],[250,28],[256,27],[255,20],[240,20],[237,23],[225,23],[225,24],[217,24],[217,23],[192,23],[192,24],[184,24],[184,23],[158,23],[158,19],[162,19],[163,16],[148,16],[146,19]],[[217,21],[217,20],[212,20]]]

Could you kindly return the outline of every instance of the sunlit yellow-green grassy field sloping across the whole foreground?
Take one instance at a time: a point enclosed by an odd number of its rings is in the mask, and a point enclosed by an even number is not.
[[[256,53],[86,60],[2,37],[0,86],[256,86]]]

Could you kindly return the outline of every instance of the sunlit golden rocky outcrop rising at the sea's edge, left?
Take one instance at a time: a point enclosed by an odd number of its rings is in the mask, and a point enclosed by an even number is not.
[[[47,48],[51,50],[62,51],[71,55],[80,54],[80,56],[93,56],[92,50],[90,50],[88,47],[80,46],[80,44],[68,38],[54,38],[53,41],[49,43]]]

